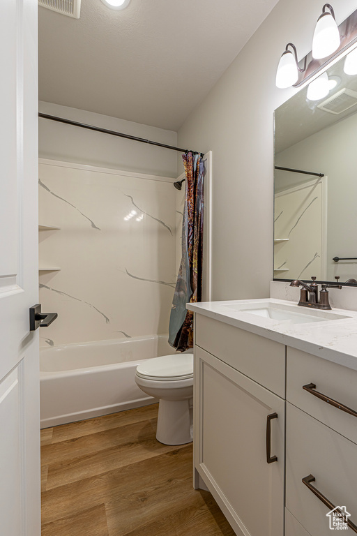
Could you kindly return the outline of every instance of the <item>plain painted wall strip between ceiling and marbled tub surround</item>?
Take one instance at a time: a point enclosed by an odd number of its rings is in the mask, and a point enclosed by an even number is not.
[[[162,128],[41,101],[39,111],[43,114],[56,115],[79,123],[143,137],[145,140],[177,146],[176,132],[165,131]],[[56,123],[48,119],[39,119],[39,151],[40,158],[149,173],[162,177],[177,176],[176,151]]]

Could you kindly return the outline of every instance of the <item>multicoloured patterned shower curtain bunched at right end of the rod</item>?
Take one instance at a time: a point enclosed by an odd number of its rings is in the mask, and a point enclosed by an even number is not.
[[[193,313],[185,304],[202,299],[204,163],[202,155],[183,154],[185,207],[182,224],[182,258],[169,322],[169,344],[183,352],[193,347]]]

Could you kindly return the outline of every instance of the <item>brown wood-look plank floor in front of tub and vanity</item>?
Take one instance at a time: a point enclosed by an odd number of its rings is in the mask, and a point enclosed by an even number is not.
[[[192,444],[155,439],[158,405],[41,431],[42,536],[234,536],[192,488]]]

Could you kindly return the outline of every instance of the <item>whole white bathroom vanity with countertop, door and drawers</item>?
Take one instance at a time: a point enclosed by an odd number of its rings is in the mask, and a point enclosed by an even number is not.
[[[357,313],[278,299],[190,308],[195,487],[239,536],[326,536],[335,507],[357,523]]]

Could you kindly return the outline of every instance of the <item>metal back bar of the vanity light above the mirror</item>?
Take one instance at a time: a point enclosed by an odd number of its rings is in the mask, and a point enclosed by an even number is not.
[[[357,10],[351,13],[344,22],[338,27],[341,43],[331,56],[323,59],[314,59],[312,52],[309,52],[301,61],[298,62],[299,73],[298,81],[294,84],[294,87],[302,87],[312,82],[328,67],[336,63],[339,59],[346,56],[350,50],[357,46]],[[306,65],[306,70],[301,73],[301,69]]]

